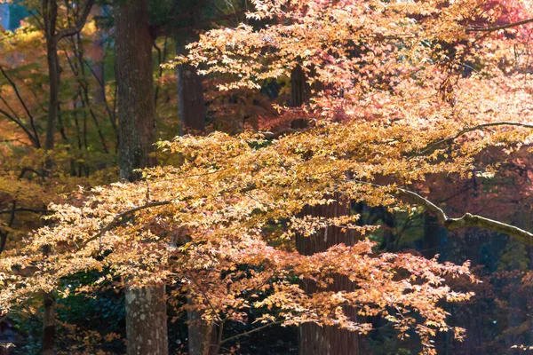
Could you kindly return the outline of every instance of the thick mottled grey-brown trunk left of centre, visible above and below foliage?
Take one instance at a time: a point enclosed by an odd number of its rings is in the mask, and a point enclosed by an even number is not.
[[[120,176],[133,181],[132,170],[153,165],[155,105],[148,2],[123,1],[116,7]],[[126,286],[128,355],[168,354],[164,285]]]

